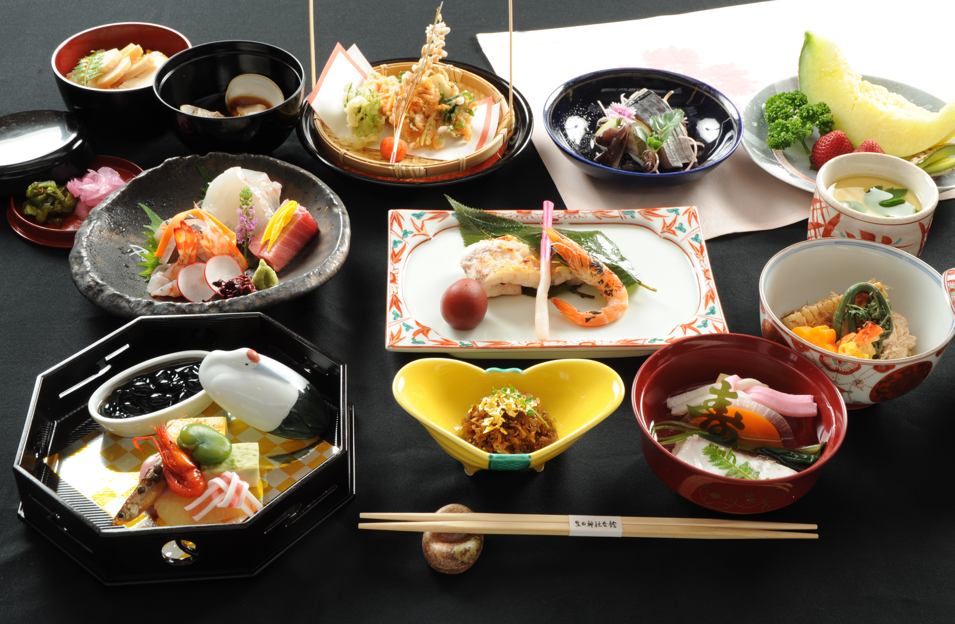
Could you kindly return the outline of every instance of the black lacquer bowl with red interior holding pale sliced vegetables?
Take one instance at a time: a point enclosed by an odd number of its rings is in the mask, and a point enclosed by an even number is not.
[[[165,111],[152,83],[138,89],[94,89],[67,79],[76,62],[95,50],[122,49],[135,43],[145,50],[172,56],[192,47],[179,31],[159,24],[124,22],[77,32],[53,52],[53,76],[63,102],[79,117],[87,136],[138,140],[158,135],[166,128]]]

